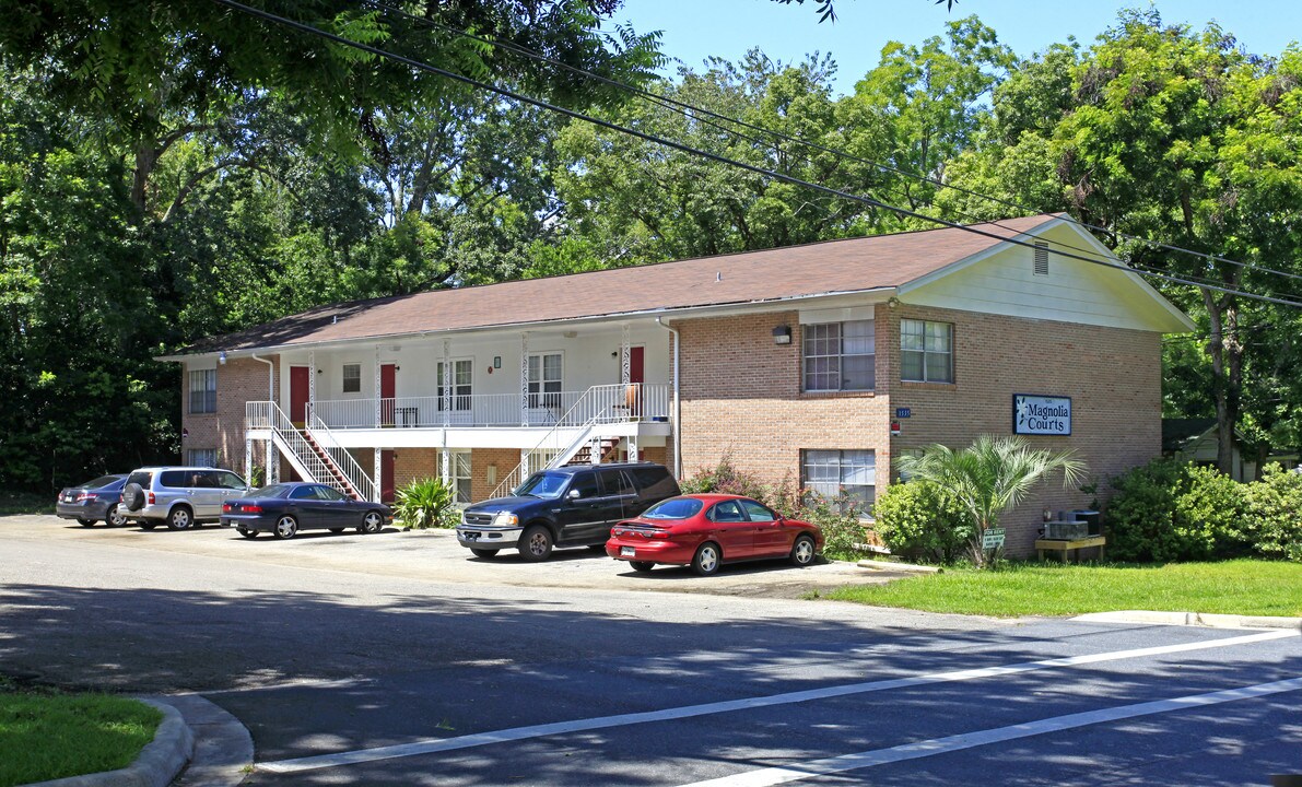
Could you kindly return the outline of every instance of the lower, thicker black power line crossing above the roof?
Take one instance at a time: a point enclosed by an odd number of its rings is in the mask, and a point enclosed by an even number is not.
[[[871,206],[871,207],[875,207],[875,208],[880,208],[880,209],[884,209],[884,211],[889,211],[889,212],[893,212],[893,213],[897,213],[897,215],[901,215],[901,216],[906,216],[906,217],[910,217],[910,219],[919,219],[919,220],[923,220],[923,221],[930,221],[932,224],[939,224],[941,226],[948,226],[950,229],[958,229],[958,230],[963,230],[963,232],[967,232],[967,233],[983,235],[983,237],[991,238],[993,241],[999,241],[1001,243],[1012,243],[1012,245],[1023,246],[1023,247],[1031,248],[1031,250],[1038,248],[1038,246],[1034,242],[1022,241],[1022,239],[1019,239],[1017,237],[1005,237],[1005,235],[1000,235],[997,233],[993,233],[993,232],[990,232],[990,230],[986,230],[986,229],[980,229],[979,226],[963,225],[963,224],[957,224],[954,221],[949,221],[949,220],[945,220],[945,219],[927,216],[924,213],[919,213],[919,212],[909,209],[909,208],[902,208],[902,207],[898,207],[898,206],[892,206],[889,203],[884,203],[884,202],[881,202],[879,199],[874,199],[871,196],[865,196],[865,195],[861,195],[861,194],[852,194],[849,191],[842,191],[840,189],[832,189],[831,186],[823,186],[820,183],[814,183],[814,182],[810,182],[810,181],[805,181],[802,178],[797,178],[794,176],[784,174],[781,172],[776,172],[776,170],[772,170],[772,169],[766,169],[763,167],[756,167],[754,164],[747,164],[745,161],[738,161],[736,159],[729,159],[727,156],[720,156],[717,153],[711,153],[708,151],[694,148],[694,147],[691,147],[689,144],[684,144],[681,142],[676,142],[676,140],[672,140],[672,139],[665,139],[665,138],[658,137],[655,134],[648,134],[648,133],[644,133],[644,131],[639,131],[637,129],[630,129],[628,126],[621,126],[618,124],[615,124],[615,122],[611,122],[611,121],[607,121],[607,120],[591,117],[589,114],[583,114],[582,112],[577,112],[574,109],[568,109],[565,107],[560,107],[557,104],[552,104],[552,103],[544,101],[542,99],[535,99],[533,96],[526,96],[523,94],[508,90],[505,87],[500,87],[500,86],[496,86],[496,85],[492,85],[492,83],[488,83],[488,82],[482,82],[482,81],[475,79],[473,77],[466,77],[465,74],[458,74],[456,72],[449,72],[447,69],[441,69],[439,66],[430,65],[428,62],[424,62],[424,61],[421,61],[421,60],[406,57],[404,55],[398,55],[396,52],[389,52],[387,49],[380,49],[379,47],[372,47],[370,44],[363,44],[361,42],[355,42],[355,40],[344,38],[344,36],[333,34],[333,33],[329,33],[329,31],[326,31],[326,30],[320,30],[318,27],[312,27],[311,25],[306,25],[303,22],[297,22],[294,20],[289,20],[289,18],[285,18],[285,17],[281,17],[281,16],[277,16],[277,14],[262,10],[262,9],[256,9],[256,8],[245,5],[243,3],[238,3],[237,0],[212,0],[212,1],[216,3],[217,5],[224,5],[227,8],[238,10],[241,13],[255,16],[255,17],[267,20],[270,22],[275,22],[277,25],[283,25],[283,26],[298,30],[301,33],[306,33],[309,35],[316,35],[319,38],[324,38],[327,40],[332,40],[332,42],[337,43],[337,44],[342,44],[345,47],[350,47],[350,48],[354,48],[354,49],[358,49],[358,51],[362,51],[362,52],[367,52],[370,55],[375,55],[375,56],[379,56],[379,57],[385,57],[385,59],[389,59],[389,60],[393,60],[393,61],[397,61],[397,62],[402,62],[402,64],[409,65],[409,66],[411,66],[414,69],[423,70],[423,72],[427,72],[427,73],[431,73],[431,74],[436,74],[436,75],[440,75],[440,77],[445,77],[448,79],[453,79],[456,82],[461,82],[464,85],[469,85],[471,87],[486,90],[488,92],[493,92],[496,95],[500,95],[503,98],[506,98],[506,99],[510,99],[510,100],[514,100],[514,101],[522,101],[522,103],[530,104],[533,107],[538,107],[540,109],[548,109],[551,112],[556,112],[559,114],[564,114],[564,116],[570,117],[573,120],[581,120],[581,121],[592,124],[592,125],[599,126],[599,127],[609,129],[612,131],[618,131],[618,133],[622,133],[622,134],[629,134],[631,137],[637,137],[637,138],[643,139],[646,142],[652,142],[652,143],[656,143],[656,144],[663,144],[665,147],[669,147],[669,148],[673,148],[673,150],[677,150],[677,151],[681,151],[681,152],[685,152],[685,153],[689,153],[689,155],[699,156],[699,157],[703,157],[703,159],[707,159],[707,160],[711,160],[711,161],[716,161],[716,163],[720,163],[720,164],[727,164],[727,165],[730,165],[730,167],[738,168],[738,169],[745,169],[747,172],[751,172],[751,173],[755,173],[755,174],[760,174],[760,176],[764,176],[764,177],[769,177],[769,178],[773,178],[773,180],[779,180],[779,181],[783,181],[783,182],[786,182],[786,183],[792,183],[792,185],[796,185],[796,186],[803,186],[806,189],[811,189],[811,190],[815,190],[815,191],[822,191],[824,194],[829,194],[832,196],[838,196],[841,199],[848,199],[848,200],[852,200],[852,202],[861,202],[863,204],[867,204],[867,206]],[[1013,230],[1009,230],[1009,232],[1013,232]],[[1022,233],[1018,233],[1018,234],[1022,234]],[[1040,246],[1039,248],[1043,248],[1043,246]],[[1095,265],[1101,265],[1104,268],[1112,268],[1115,271],[1122,271],[1122,272],[1126,272],[1126,273],[1134,273],[1134,274],[1138,274],[1138,276],[1144,276],[1144,273],[1142,273],[1139,271],[1135,271],[1135,269],[1133,269],[1133,268],[1130,268],[1128,265],[1113,264],[1113,263],[1109,263],[1105,259],[1100,259],[1100,258],[1082,256],[1082,255],[1070,254],[1070,252],[1059,251],[1059,250],[1053,250],[1053,254],[1056,254],[1059,256],[1062,256],[1062,258],[1066,258],[1066,259],[1075,259],[1075,260],[1081,260],[1081,261],[1085,261],[1085,263],[1090,263],[1090,264],[1095,264]],[[1186,280],[1182,280],[1180,277],[1165,274],[1165,273],[1150,272],[1146,276],[1150,276],[1152,278],[1159,278],[1159,280],[1163,280],[1163,281],[1169,281],[1169,282],[1173,282],[1173,284],[1182,284],[1182,285],[1189,285],[1189,286],[1200,286],[1200,287],[1204,287],[1204,289],[1211,289],[1211,290],[1226,293],[1226,294],[1230,294],[1230,295],[1241,295],[1243,298],[1251,298],[1251,299],[1255,299],[1255,300],[1264,300],[1264,302],[1269,302],[1269,303],[1277,303],[1280,306],[1292,306],[1292,307],[1302,308],[1302,302],[1286,300],[1286,299],[1282,299],[1282,298],[1273,298],[1273,297],[1269,297],[1269,295],[1258,295],[1255,293],[1246,293],[1246,291],[1233,290],[1233,289],[1229,289],[1229,287],[1216,286],[1216,285],[1199,285],[1197,282],[1186,281]]]

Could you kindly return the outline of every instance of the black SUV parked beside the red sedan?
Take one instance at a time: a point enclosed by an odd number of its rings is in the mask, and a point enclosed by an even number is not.
[[[603,546],[613,524],[676,494],[669,471],[650,462],[542,470],[512,497],[469,506],[457,542],[482,558],[514,546],[526,561],[546,561],[552,546]]]

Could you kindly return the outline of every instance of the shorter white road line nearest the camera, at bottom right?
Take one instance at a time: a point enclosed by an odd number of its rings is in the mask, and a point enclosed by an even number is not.
[[[763,770],[751,770],[732,777],[723,777],[706,782],[694,782],[684,787],[769,787],[772,784],[786,784],[789,782],[799,782],[812,777],[874,767],[876,765],[889,765],[892,762],[904,762],[906,760],[935,757],[936,754],[960,752],[962,749],[990,745],[992,743],[1003,743],[1006,740],[1017,740],[1018,738],[1030,738],[1032,735],[1044,735],[1046,732],[1061,732],[1062,730],[1072,730],[1088,725],[1101,725],[1105,722],[1116,722],[1139,715],[1187,710],[1190,708],[1204,708],[1207,705],[1220,705],[1221,702],[1233,702],[1236,700],[1251,700],[1255,697],[1266,697],[1269,695],[1299,689],[1302,689],[1302,678],[1276,680],[1273,683],[1259,683],[1256,686],[1245,686],[1243,688],[1230,688],[1206,695],[1187,695],[1184,697],[1172,697],[1169,700],[1139,702],[1137,705],[1120,705],[1117,708],[1105,708],[1103,710],[1087,710],[1085,713],[1057,715],[1053,718],[1040,719],[1038,722],[995,727],[992,730],[980,730],[976,732],[963,732],[961,735],[936,738],[934,740],[919,740],[918,743],[906,743],[904,745],[891,747],[889,749],[874,749],[868,752],[858,752],[855,754],[842,754],[840,757],[814,760],[801,765],[793,765],[790,767],[766,767]]]

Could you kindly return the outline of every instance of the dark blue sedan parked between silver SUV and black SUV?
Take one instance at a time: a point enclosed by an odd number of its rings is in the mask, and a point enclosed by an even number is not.
[[[293,539],[298,531],[312,528],[378,533],[392,520],[393,513],[383,503],[353,500],[333,487],[306,481],[271,484],[221,506],[221,524],[233,526],[245,539],[262,532]]]

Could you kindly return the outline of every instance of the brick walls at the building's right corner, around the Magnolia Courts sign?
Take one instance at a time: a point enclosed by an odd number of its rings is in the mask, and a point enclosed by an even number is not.
[[[901,317],[954,325],[954,384],[898,380]],[[792,327],[790,345],[772,329]],[[876,392],[801,393],[801,327],[796,312],[686,320],[682,332],[684,474],[729,455],[771,484],[799,481],[801,449],[876,451],[878,489],[896,476],[892,455],[978,434],[1012,434],[1014,393],[1065,395],[1070,437],[1027,437],[1038,449],[1077,451],[1092,477],[1157,455],[1161,433],[1160,341],[1155,333],[1023,320],[900,304],[876,307]],[[896,407],[910,407],[893,438]],[[667,457],[668,458],[668,457]],[[1099,484],[1105,493],[1105,481]],[[1091,496],[1040,487],[1004,522],[1014,554],[1031,549],[1040,511],[1086,507]]]

